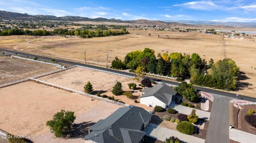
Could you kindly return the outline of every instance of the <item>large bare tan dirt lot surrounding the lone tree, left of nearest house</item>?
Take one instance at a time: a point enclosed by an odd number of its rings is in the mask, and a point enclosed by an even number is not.
[[[0,88],[0,92],[0,129],[20,135],[49,131],[46,121],[61,109],[79,115],[99,102],[33,81]]]

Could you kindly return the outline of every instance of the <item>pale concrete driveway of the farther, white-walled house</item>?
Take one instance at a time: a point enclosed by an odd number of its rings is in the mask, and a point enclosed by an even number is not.
[[[182,113],[182,114],[186,114],[186,115],[189,115],[191,113],[191,111],[195,108],[190,108],[190,107],[187,107],[187,106],[182,106],[182,105],[178,105],[178,104],[175,104],[175,103],[171,103],[168,108],[174,108],[175,110],[177,110],[179,113]],[[202,118],[204,120],[208,120],[210,119],[210,115],[211,113],[210,112],[206,112],[206,111],[202,111],[202,110],[196,110],[196,114],[198,115],[199,118]]]

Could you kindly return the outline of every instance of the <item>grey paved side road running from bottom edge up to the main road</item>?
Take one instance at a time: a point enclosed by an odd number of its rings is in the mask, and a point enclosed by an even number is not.
[[[206,134],[206,143],[229,142],[229,101],[233,98],[213,95],[209,128]]]

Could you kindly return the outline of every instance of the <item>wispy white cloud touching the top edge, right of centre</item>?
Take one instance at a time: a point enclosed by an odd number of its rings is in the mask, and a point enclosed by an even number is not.
[[[214,10],[221,8],[221,6],[214,4],[212,1],[194,1],[183,4],[175,4],[173,6],[181,6],[194,10]]]

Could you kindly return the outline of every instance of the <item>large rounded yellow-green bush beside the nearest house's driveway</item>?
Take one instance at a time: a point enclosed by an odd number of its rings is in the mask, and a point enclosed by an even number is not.
[[[176,129],[182,133],[185,134],[194,134],[195,133],[195,127],[192,123],[188,122],[188,121],[182,121],[180,122]]]

